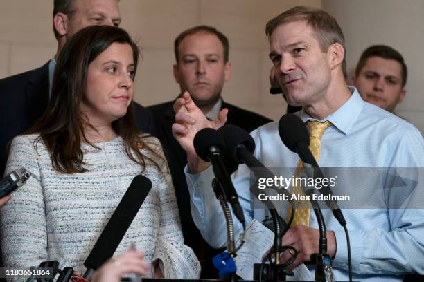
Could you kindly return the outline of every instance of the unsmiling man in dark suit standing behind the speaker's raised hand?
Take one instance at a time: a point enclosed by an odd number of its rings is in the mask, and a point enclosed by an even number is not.
[[[174,76],[182,93],[188,91],[192,99],[210,119],[227,108],[227,124],[235,124],[246,131],[252,131],[270,119],[240,109],[222,101],[221,91],[231,74],[228,62],[228,39],[221,32],[209,26],[196,26],[182,32],[175,39]],[[211,259],[221,250],[214,250],[207,245],[193,223],[190,212],[190,197],[184,167],[187,163],[186,152],[173,137],[171,127],[175,122],[174,101],[150,106],[156,122],[156,131],[166,151],[168,164],[173,176],[173,184],[182,220],[184,243],[193,248],[202,265],[202,278],[215,278]]]

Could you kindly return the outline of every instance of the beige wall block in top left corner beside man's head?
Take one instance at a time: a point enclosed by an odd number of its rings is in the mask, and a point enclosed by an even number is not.
[[[52,13],[53,0],[1,1],[1,40],[54,44]]]

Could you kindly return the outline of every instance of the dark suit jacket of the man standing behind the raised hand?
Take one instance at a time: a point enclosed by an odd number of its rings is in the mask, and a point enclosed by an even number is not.
[[[182,230],[184,234],[184,243],[190,246],[202,264],[202,278],[216,278],[216,272],[211,263],[211,258],[218,254],[218,250],[204,243],[202,235],[193,222],[190,211],[190,196],[188,195],[188,188],[186,177],[184,174],[184,167],[187,164],[186,152],[179,146],[171,131],[171,126],[175,122],[175,113],[173,110],[173,102],[166,102],[148,107],[152,110],[154,121],[156,122],[156,131],[159,140],[161,140],[166,152],[166,158],[170,171],[173,176],[173,184],[175,186],[175,194],[177,196],[177,203],[179,208],[179,215],[182,222]],[[228,120],[227,124],[234,124],[240,126],[246,131],[253,131],[259,126],[271,122],[269,118],[262,115],[240,109],[231,104],[222,102],[222,109],[227,108]],[[203,245],[203,247],[202,247]]]

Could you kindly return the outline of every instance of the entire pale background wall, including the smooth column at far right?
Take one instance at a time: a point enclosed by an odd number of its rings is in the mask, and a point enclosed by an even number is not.
[[[233,72],[224,86],[224,100],[278,120],[286,104],[268,93],[271,62],[265,23],[292,6],[308,5],[324,8],[339,21],[349,68],[371,44],[389,44],[404,55],[407,98],[398,113],[424,132],[423,0],[121,0],[119,5],[122,27],[143,46],[136,77],[136,100],[143,105],[176,97],[173,41],[182,30],[207,24],[230,41]],[[52,12],[53,0],[1,1],[0,78],[42,66],[53,57]]]

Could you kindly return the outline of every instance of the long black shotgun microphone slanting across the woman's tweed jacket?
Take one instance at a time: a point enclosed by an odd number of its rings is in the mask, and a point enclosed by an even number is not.
[[[139,212],[150,189],[152,189],[152,182],[149,178],[142,175],[134,177],[130,187],[128,187],[121,202],[116,207],[114,214],[112,214],[105,229],[100,234],[96,245],[94,245],[84,262],[84,266],[87,267],[87,271],[84,274],[85,279],[89,279],[94,270],[98,269],[114,255],[116,248],[121,243],[137,212]]]

